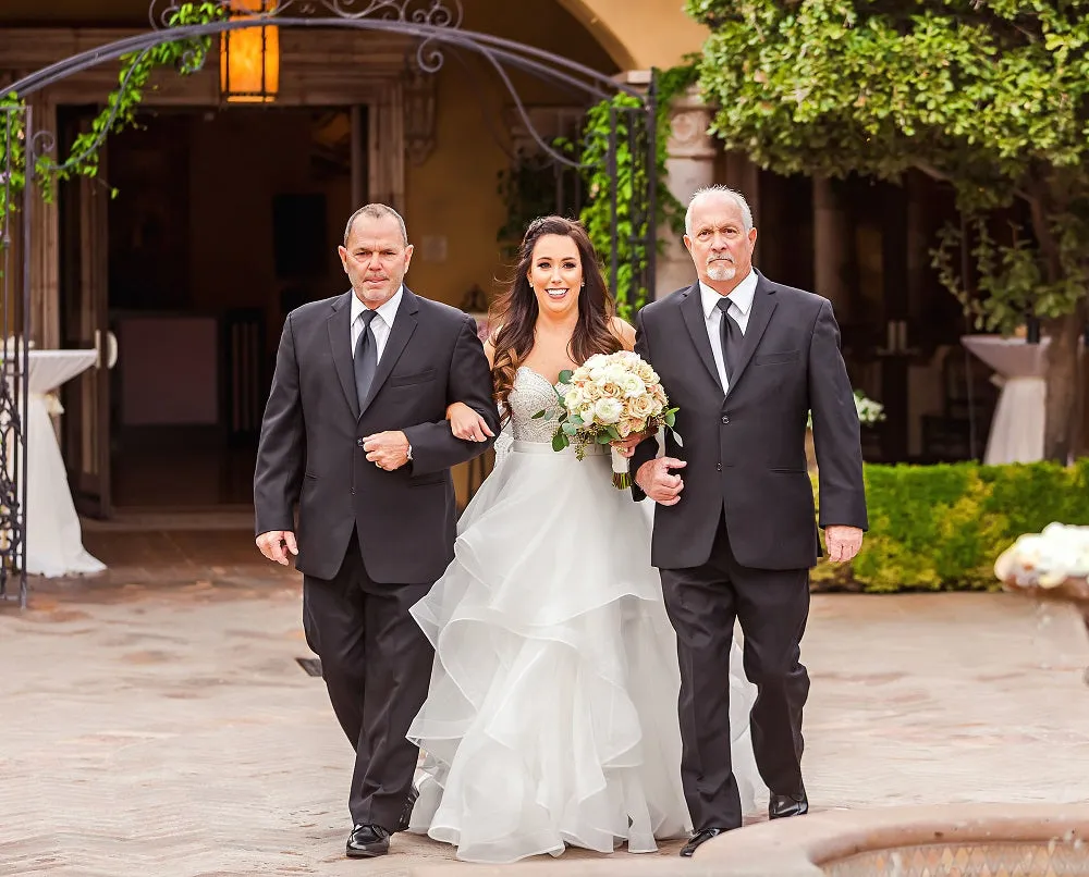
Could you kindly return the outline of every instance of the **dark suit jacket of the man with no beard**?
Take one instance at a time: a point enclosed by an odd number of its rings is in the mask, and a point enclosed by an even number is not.
[[[453,557],[450,467],[490,444],[455,439],[446,406],[464,402],[499,434],[488,360],[470,317],[405,288],[360,413],[352,295],[287,314],[257,452],[257,533],[294,530],[297,568],[331,579],[358,528],[374,581],[431,582]],[[392,472],[363,449],[364,436],[387,430],[403,430],[412,444],[412,462]]]

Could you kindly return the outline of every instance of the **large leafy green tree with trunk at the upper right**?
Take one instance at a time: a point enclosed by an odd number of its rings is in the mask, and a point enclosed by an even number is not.
[[[945,181],[977,234],[947,232],[943,283],[986,329],[1026,313],[1051,335],[1045,455],[1065,461],[1079,410],[1089,281],[1089,1],[687,0],[711,28],[700,84],[713,129],[780,172]],[[988,219],[1014,208],[1012,244]],[[993,224],[993,223],[992,223]],[[951,248],[969,247],[982,300]]]

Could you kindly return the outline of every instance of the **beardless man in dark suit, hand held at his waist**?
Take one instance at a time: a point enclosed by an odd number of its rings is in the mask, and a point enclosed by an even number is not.
[[[464,402],[499,432],[476,324],[405,288],[412,251],[392,208],[348,220],[352,289],[287,316],[254,475],[257,545],[279,564],[297,555],[306,641],[356,750],[352,857],[386,853],[407,824],[417,750],[405,733],[433,657],[408,609],[453,558],[450,468],[491,442],[455,439],[446,406]]]

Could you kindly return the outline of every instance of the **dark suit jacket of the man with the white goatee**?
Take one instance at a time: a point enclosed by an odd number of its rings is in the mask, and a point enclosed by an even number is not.
[[[699,285],[645,307],[636,351],[680,406],[666,454],[687,462],[681,502],[656,506],[652,560],[664,569],[707,563],[725,512],[734,556],[758,569],[817,563],[819,541],[806,468],[807,412],[820,468],[820,526],[867,528],[858,415],[840,355],[832,305],[758,272],[745,343],[725,396],[711,356]],[[636,448],[632,471],[657,453]],[[635,498],[643,491],[633,489]]]

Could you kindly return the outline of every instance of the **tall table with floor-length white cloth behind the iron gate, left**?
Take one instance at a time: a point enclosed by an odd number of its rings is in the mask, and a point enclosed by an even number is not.
[[[30,350],[26,415],[26,571],[57,577],[101,572],[106,565],[83,547],[48,394],[95,365],[95,350]],[[21,402],[21,400],[20,400]]]

